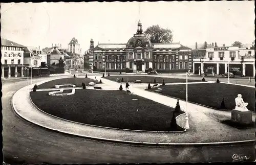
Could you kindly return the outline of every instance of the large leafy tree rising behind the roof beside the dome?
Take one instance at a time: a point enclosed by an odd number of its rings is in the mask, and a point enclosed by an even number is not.
[[[163,29],[159,25],[148,27],[144,34],[152,43],[168,43],[173,41],[173,32],[168,28]]]

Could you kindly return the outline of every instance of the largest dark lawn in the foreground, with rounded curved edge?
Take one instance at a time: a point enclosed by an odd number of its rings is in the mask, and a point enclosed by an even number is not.
[[[174,108],[137,95],[92,89],[76,89],[71,96],[49,96],[48,92],[30,92],[31,99],[41,110],[62,119],[120,129],[170,131]]]

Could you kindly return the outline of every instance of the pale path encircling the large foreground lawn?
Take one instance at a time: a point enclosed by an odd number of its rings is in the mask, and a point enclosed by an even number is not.
[[[93,78],[94,76],[88,76]],[[54,78],[56,79],[56,78]],[[106,80],[97,76],[97,79],[101,79],[104,85],[110,88],[118,88],[120,83]],[[50,81],[50,80],[47,80]],[[45,81],[46,82],[46,81]],[[44,82],[42,82],[44,83]],[[39,85],[41,83],[37,83]],[[224,115],[228,117],[230,112],[218,112],[214,109],[205,108],[199,105],[188,103],[187,112],[189,114],[190,129],[186,132],[171,133],[171,132],[145,132],[145,131],[127,131],[120,129],[110,129],[104,127],[84,125],[67,120],[60,119],[56,116],[52,116],[45,113],[35,107],[30,100],[29,89],[34,84],[24,87],[18,90],[12,99],[12,105],[18,115],[22,116],[29,122],[36,125],[49,128],[58,132],[99,138],[105,140],[116,140],[122,142],[133,143],[219,143],[219,142],[232,142],[241,140],[254,140],[255,129],[239,130],[227,125],[221,124],[216,120],[216,115]],[[175,107],[177,100],[166,96],[159,95],[158,93],[145,91],[138,87],[130,86],[130,90],[136,95],[145,97],[152,101],[159,102],[161,104]],[[82,90],[82,89],[77,89]],[[180,101],[181,108],[185,107],[185,102]],[[184,122],[184,115],[182,122]],[[255,116],[255,114],[254,114]],[[255,117],[254,117],[255,118]],[[180,122],[180,121],[179,121]],[[185,123],[183,123],[185,125]]]

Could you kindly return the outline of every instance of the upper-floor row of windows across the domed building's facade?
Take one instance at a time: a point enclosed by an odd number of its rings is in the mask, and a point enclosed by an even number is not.
[[[169,60],[169,55],[154,55],[154,60],[156,60],[157,57],[159,57],[160,60],[163,60],[163,56],[165,56],[166,60]],[[172,60],[175,60],[175,56],[176,55],[172,55]],[[110,56],[105,56],[105,58],[106,58],[106,60],[109,60]],[[115,58],[115,56],[111,55],[111,60],[114,60],[114,58]],[[117,55],[116,59],[117,60],[125,60],[126,56],[125,55],[123,55],[123,56]],[[130,54],[129,59],[133,59],[133,55]],[[141,54],[137,54],[137,56],[135,56],[135,59],[144,59],[144,56],[141,56]],[[149,59],[148,54],[146,54],[146,59]],[[188,60],[188,55],[179,55],[179,60],[183,60],[183,59]],[[102,60],[102,55],[101,54],[94,55],[94,60]]]

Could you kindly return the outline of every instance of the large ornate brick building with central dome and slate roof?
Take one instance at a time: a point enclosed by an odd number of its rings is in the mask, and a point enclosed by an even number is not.
[[[142,31],[138,22],[137,33],[126,43],[99,43],[90,49],[84,60],[96,70],[125,70],[147,72],[149,68],[158,72],[186,72],[192,69],[191,49],[180,43],[152,43]],[[86,63],[86,61],[84,61]]]

